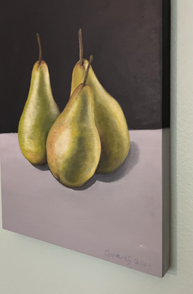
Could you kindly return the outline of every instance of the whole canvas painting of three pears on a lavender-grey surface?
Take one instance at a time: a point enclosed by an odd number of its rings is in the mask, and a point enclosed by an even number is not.
[[[4,230],[163,277],[170,2],[12,1],[3,11]]]

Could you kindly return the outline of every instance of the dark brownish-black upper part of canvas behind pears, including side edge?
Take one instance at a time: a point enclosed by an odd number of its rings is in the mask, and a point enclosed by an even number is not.
[[[18,132],[38,60],[49,68],[54,100],[64,109],[78,62],[78,29],[83,57],[119,102],[128,128],[170,125],[170,1],[12,0],[0,7],[0,132]],[[163,41],[163,42],[162,42]],[[163,90],[162,90],[163,89]]]

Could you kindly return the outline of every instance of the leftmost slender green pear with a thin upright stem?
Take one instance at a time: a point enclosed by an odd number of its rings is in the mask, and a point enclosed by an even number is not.
[[[23,155],[31,164],[45,165],[47,135],[60,112],[52,96],[47,64],[42,60],[39,34],[37,41],[40,58],[33,67],[28,100],[18,125],[18,140]]]

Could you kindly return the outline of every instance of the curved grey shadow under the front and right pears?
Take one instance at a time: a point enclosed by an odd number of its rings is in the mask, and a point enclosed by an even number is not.
[[[129,153],[122,163],[122,165],[114,171],[112,174],[94,174],[83,186],[73,188],[75,191],[84,191],[93,186],[96,181],[102,181],[105,183],[112,183],[122,179],[124,176],[129,174],[129,171],[134,168],[134,166],[139,161],[139,147],[136,142],[131,142]]]

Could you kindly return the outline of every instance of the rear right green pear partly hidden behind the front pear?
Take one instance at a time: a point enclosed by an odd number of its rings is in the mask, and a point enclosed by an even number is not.
[[[79,34],[80,60],[76,63],[71,81],[71,93],[83,81],[88,60],[83,59],[81,30]],[[105,91],[90,66],[87,84],[93,90],[95,125],[101,142],[101,155],[97,174],[110,174],[124,162],[129,152],[130,140],[127,121],[119,103]]]

